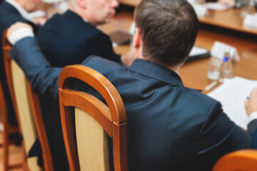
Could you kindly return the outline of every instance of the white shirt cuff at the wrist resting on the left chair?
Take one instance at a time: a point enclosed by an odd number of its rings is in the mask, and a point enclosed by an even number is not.
[[[11,33],[11,36],[9,36],[9,41],[12,45],[14,45],[17,41],[20,41],[25,37],[34,37],[34,33],[31,28],[18,28],[16,31]]]

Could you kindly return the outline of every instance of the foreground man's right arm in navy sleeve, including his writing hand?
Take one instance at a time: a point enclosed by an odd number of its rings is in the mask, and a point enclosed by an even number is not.
[[[210,170],[219,157],[228,152],[244,148],[253,148],[256,145],[257,133],[257,88],[254,88],[250,97],[245,102],[246,113],[249,116],[248,133],[235,125],[221,109],[221,104],[216,103],[209,110],[206,122],[198,135],[197,155],[198,161],[204,170]],[[256,136],[256,135],[255,135]],[[200,163],[199,163],[200,164]]]

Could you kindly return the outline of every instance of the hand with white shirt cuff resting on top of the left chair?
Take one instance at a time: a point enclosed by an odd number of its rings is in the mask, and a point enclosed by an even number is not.
[[[11,25],[7,31],[7,39],[12,45],[26,36],[34,36],[33,28],[29,24],[17,22]]]

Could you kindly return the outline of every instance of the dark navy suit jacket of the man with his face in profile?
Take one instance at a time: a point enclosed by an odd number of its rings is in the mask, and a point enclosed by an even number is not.
[[[78,64],[92,54],[120,61],[110,38],[72,11],[56,14],[40,29],[36,38],[52,66]]]

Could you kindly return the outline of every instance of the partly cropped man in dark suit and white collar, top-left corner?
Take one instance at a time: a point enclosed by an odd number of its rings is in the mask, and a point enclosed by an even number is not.
[[[11,96],[4,71],[2,36],[4,30],[17,21],[28,23],[31,24],[31,26],[34,26],[34,24],[31,22],[32,19],[30,19],[28,16],[28,12],[38,9],[40,3],[41,0],[6,0],[0,3],[0,77],[7,103],[8,120],[11,125],[16,125],[16,116],[14,113],[13,104],[11,102]],[[34,26],[34,28],[36,28],[36,26]]]

